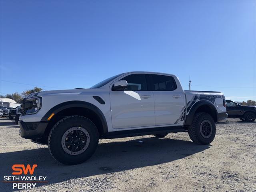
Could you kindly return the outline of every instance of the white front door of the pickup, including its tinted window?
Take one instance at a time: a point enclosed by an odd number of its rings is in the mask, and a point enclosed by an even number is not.
[[[110,90],[112,126],[115,129],[155,125],[154,96],[145,74],[130,74],[126,90]]]

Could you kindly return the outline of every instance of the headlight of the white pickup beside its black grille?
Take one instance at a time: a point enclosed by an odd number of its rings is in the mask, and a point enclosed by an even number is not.
[[[26,110],[26,115],[37,113],[42,105],[42,99],[39,97],[27,98],[22,103],[22,110]]]

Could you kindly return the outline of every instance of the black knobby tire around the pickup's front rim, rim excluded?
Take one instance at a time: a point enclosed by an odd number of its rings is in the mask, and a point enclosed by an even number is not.
[[[62,136],[72,127],[84,128],[89,136],[90,142],[84,152],[77,155],[68,154],[62,147]],[[99,133],[95,124],[83,116],[67,116],[59,120],[50,131],[48,136],[48,147],[50,154],[58,162],[75,165],[88,160],[95,152],[99,142]]]

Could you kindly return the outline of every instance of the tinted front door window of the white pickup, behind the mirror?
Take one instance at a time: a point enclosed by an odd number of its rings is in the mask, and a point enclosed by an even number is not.
[[[128,75],[121,80],[128,82],[128,91],[145,91],[147,90],[147,82],[145,74],[132,74]]]

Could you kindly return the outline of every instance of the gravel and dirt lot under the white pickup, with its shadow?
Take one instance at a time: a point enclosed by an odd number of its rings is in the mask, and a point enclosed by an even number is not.
[[[0,119],[0,177],[12,176],[13,164],[38,164],[35,175],[48,183],[34,191],[256,191],[256,122],[221,122],[206,146],[187,133],[104,139],[90,160],[75,166],[56,162],[18,130],[14,120]],[[12,191],[12,184],[0,188]]]

